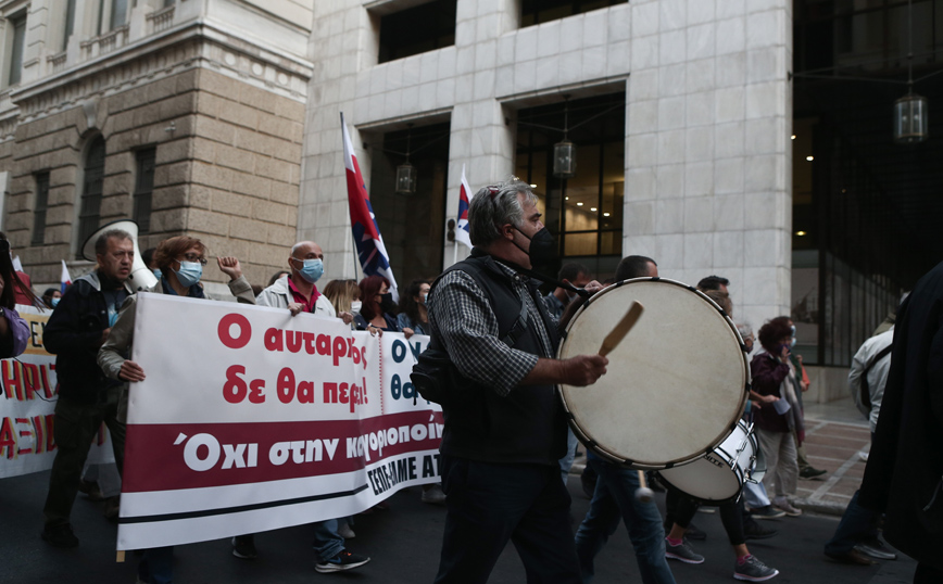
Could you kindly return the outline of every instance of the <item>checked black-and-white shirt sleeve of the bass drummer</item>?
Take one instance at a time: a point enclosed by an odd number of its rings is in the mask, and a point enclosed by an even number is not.
[[[537,365],[537,355],[511,348],[498,339],[491,304],[464,271],[443,276],[427,304],[432,334],[442,341],[463,376],[507,395]]]

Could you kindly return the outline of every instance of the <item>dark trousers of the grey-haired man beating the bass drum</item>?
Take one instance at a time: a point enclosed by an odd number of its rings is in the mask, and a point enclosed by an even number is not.
[[[437,583],[487,582],[508,539],[531,584],[580,582],[559,467],[442,456],[445,533]]]

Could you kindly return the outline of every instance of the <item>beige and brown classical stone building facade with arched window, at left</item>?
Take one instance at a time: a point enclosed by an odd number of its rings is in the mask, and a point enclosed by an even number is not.
[[[37,289],[124,218],[141,250],[189,234],[267,282],[296,241],[312,4],[0,2],[3,230]]]

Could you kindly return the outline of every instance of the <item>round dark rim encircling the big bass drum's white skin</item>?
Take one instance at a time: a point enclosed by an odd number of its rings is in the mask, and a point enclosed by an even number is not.
[[[717,446],[722,444],[724,441],[727,440],[727,437],[731,433],[733,433],[733,430],[737,428],[737,424],[740,422],[740,417],[743,414],[743,409],[745,408],[746,402],[750,397],[750,385],[751,385],[751,383],[750,383],[750,380],[751,380],[750,379],[750,361],[746,357],[747,351],[746,351],[746,345],[743,343],[743,338],[740,335],[740,331],[737,329],[737,325],[733,322],[733,319],[730,318],[730,315],[728,315],[727,312],[724,310],[724,308],[721,308],[716,302],[711,300],[711,297],[707,294],[697,290],[695,287],[688,284],[688,283],[684,283],[684,282],[681,282],[679,280],[672,280],[670,278],[663,278],[661,276],[630,278],[628,280],[621,280],[619,282],[615,282],[614,284],[612,284],[609,287],[606,287],[602,291],[596,292],[595,294],[593,294],[592,296],[587,299],[587,301],[582,304],[582,306],[580,306],[577,309],[577,312],[574,313],[569,322],[567,322],[566,329],[561,334],[562,340],[561,340],[559,345],[557,346],[556,358],[557,359],[563,358],[562,357],[563,350],[566,346],[566,341],[567,341],[567,338],[569,335],[569,331],[571,330],[571,328],[574,326],[574,322],[577,321],[579,316],[584,310],[587,310],[590,305],[592,305],[594,302],[598,302],[599,299],[601,299],[604,294],[607,294],[607,293],[611,293],[615,290],[618,290],[619,288],[621,288],[624,285],[637,283],[637,282],[665,282],[668,284],[677,285],[679,288],[683,288],[686,290],[694,292],[699,297],[701,297],[701,300],[706,301],[707,304],[712,308],[714,308],[715,310],[717,310],[720,314],[724,321],[727,323],[727,326],[730,328],[730,330],[733,332],[735,339],[740,343],[740,356],[741,356],[742,366],[743,366],[743,368],[742,368],[742,371],[743,371],[743,394],[740,398],[740,407],[738,408],[738,412],[730,420],[727,421],[727,423],[725,426],[725,430],[721,431],[720,435],[717,439],[715,439],[715,441],[713,442],[712,445],[708,445],[706,448],[704,448],[697,453],[694,453],[693,455],[691,455],[688,458],[679,458],[676,460],[668,460],[668,461],[662,461],[662,462],[655,462],[652,460],[632,460],[629,458],[625,458],[620,454],[612,452],[612,450],[605,448],[604,446],[601,446],[599,444],[599,442],[596,442],[589,433],[587,433],[582,429],[582,427],[577,426],[576,419],[575,419],[576,417],[575,417],[573,410],[569,408],[569,406],[566,403],[566,395],[564,393],[564,384],[557,384],[556,385],[556,392],[557,392],[557,395],[559,396],[559,401],[561,401],[561,404],[563,405],[564,411],[566,412],[567,423],[569,424],[570,429],[573,429],[573,431],[577,435],[577,437],[580,439],[580,442],[582,442],[588,448],[592,448],[592,450],[595,454],[598,454],[600,457],[602,457],[602,458],[604,458],[611,462],[614,462],[614,464],[617,464],[617,465],[620,465],[624,467],[633,468],[633,469],[667,470],[670,468],[689,465],[691,462],[694,462],[695,460],[699,460],[701,457],[711,454],[712,452],[714,452],[714,449]]]

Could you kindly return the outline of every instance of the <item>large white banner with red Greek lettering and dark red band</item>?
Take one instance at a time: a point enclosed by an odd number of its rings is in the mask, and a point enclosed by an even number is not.
[[[441,409],[408,383],[428,338],[159,294],[138,296],[134,334],[120,550],[345,517],[439,480]]]

